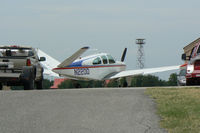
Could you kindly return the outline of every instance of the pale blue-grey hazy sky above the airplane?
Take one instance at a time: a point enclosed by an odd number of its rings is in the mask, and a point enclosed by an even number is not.
[[[137,38],[145,68],[183,64],[183,47],[200,37],[199,0],[0,0],[0,44],[40,48],[63,61],[81,47],[137,69]],[[98,49],[95,51],[94,49]],[[166,78],[161,74],[161,78]]]

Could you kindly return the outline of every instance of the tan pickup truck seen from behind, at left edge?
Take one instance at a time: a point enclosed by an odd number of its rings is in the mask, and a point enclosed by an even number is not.
[[[43,67],[37,50],[23,46],[0,46],[0,89],[3,85],[42,89]]]

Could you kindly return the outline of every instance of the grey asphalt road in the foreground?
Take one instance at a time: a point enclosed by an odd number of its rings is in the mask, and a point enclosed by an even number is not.
[[[1,133],[162,133],[145,89],[1,91]]]

